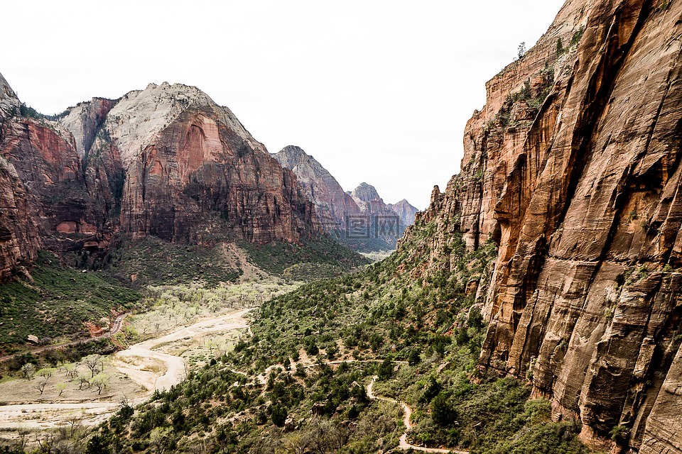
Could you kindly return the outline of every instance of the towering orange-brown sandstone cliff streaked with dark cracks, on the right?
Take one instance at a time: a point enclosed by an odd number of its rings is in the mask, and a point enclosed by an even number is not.
[[[676,1],[567,1],[488,82],[462,174],[418,215],[438,226],[432,254],[444,220],[470,249],[499,244],[477,294],[482,368],[531,377],[587,441],[628,428],[639,453],[682,453],[681,17]]]

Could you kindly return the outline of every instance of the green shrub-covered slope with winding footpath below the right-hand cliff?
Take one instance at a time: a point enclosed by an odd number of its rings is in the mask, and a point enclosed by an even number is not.
[[[454,233],[450,253],[427,264],[434,230],[421,223],[391,258],[266,301],[248,341],[137,411],[121,409],[87,452],[386,453],[404,427],[399,406],[367,398],[377,375],[375,393],[415,410],[411,443],[587,453],[579,428],[551,422],[524,384],[478,375],[485,326],[467,286],[485,282],[494,245],[465,253]]]

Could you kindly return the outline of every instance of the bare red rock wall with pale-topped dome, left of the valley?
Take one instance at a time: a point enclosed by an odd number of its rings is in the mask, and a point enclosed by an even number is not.
[[[1,279],[38,248],[85,261],[121,235],[294,243],[320,231],[293,172],[195,87],[150,84],[52,118],[0,77]]]

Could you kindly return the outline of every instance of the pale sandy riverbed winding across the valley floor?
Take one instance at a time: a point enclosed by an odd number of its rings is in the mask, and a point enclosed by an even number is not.
[[[239,338],[248,329],[244,316],[250,310],[234,309],[197,321],[103,359],[110,384],[101,395],[92,388],[79,390],[76,384],[60,396],[53,389],[39,394],[38,378],[4,382],[0,384],[0,430],[4,438],[17,438],[23,431],[68,426],[75,421],[95,426],[118,411],[121,402],[139,404],[153,392],[181,382],[187,362],[178,349],[189,350],[212,336]]]

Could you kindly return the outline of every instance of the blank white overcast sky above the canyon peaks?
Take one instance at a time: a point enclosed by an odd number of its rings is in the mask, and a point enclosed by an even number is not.
[[[563,0],[28,1],[2,6],[0,72],[54,114],[149,82],[195,85],[276,153],[423,209],[459,172],[485,82]]]

